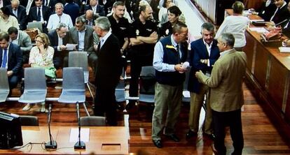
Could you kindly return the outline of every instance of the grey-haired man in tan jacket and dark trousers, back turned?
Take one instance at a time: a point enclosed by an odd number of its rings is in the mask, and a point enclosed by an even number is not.
[[[230,126],[233,154],[242,154],[244,147],[241,108],[244,103],[242,80],[246,72],[247,56],[244,52],[237,52],[233,48],[234,43],[232,34],[221,34],[217,44],[221,57],[214,64],[212,75],[207,77],[202,71],[195,73],[200,82],[211,88],[209,104],[216,135],[212,148],[216,154],[226,154],[226,126]]]

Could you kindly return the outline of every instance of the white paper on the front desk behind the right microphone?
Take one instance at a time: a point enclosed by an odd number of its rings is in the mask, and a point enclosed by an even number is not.
[[[81,128],[81,141],[90,141],[90,128]],[[71,128],[69,142],[78,142],[78,128]]]

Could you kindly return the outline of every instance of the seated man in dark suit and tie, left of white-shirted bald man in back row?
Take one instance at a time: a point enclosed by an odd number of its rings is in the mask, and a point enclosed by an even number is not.
[[[42,5],[42,0],[35,0],[35,6],[29,10],[28,22],[41,22],[43,32],[47,33],[46,24],[48,24],[50,13],[50,9]]]

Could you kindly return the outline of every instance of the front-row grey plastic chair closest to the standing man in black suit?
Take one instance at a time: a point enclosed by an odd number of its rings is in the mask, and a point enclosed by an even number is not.
[[[83,103],[88,116],[88,109],[85,106],[85,83],[83,82],[83,68],[63,68],[62,94],[58,98],[60,103]]]

